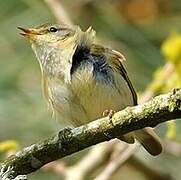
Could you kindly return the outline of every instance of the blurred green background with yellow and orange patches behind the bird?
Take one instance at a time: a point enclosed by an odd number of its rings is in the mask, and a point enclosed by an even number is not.
[[[47,110],[41,93],[39,64],[18,26],[31,27],[56,22],[51,0],[0,0],[0,158],[55,134],[65,125]],[[57,0],[70,19],[83,30],[92,26],[97,41],[121,51],[128,74],[141,95],[153,96],[181,86],[181,2],[180,0]],[[150,95],[151,94],[151,95]],[[151,157],[144,150],[135,153],[153,174],[181,179],[181,131],[179,121],[157,128],[165,152]],[[64,159],[71,167],[87,154],[85,150]],[[60,162],[61,164],[62,162]],[[142,165],[143,165],[142,164]],[[144,168],[129,161],[111,179],[153,179]],[[64,167],[65,168],[65,167]],[[101,172],[103,165],[99,167]],[[86,179],[93,179],[98,172]],[[64,179],[54,170],[42,169],[32,180]],[[163,179],[164,179],[163,178]]]

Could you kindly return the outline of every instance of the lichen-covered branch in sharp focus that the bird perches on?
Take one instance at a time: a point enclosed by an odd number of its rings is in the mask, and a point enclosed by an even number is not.
[[[127,107],[111,119],[101,118],[81,127],[64,129],[54,137],[33,144],[3,162],[0,176],[13,179],[97,143],[180,117],[181,89],[177,89],[147,103]]]

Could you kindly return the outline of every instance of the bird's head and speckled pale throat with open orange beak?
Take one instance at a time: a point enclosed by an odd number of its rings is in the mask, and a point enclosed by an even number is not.
[[[35,28],[18,27],[27,37],[40,62],[41,69],[48,73],[59,73],[72,64],[72,56],[79,44],[91,44],[95,31],[81,31],[78,26],[44,24]],[[70,69],[70,68],[69,68]]]

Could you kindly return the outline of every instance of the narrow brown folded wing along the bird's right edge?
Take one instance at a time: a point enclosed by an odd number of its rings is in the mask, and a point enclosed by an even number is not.
[[[127,82],[128,87],[133,96],[133,103],[134,103],[133,105],[137,105],[136,92],[122,64],[122,62],[125,61],[125,57],[118,51],[111,50],[109,48],[105,48],[101,45],[96,45],[96,44],[92,44],[91,53],[96,55],[104,55],[106,57],[106,60],[108,61],[108,64],[110,64],[111,68],[118,71],[120,75],[124,78],[124,80]]]

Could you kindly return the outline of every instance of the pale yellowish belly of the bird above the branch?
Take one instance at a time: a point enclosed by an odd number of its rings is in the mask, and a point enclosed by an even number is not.
[[[54,86],[52,92],[57,118],[73,126],[100,118],[105,110],[119,111],[133,104],[131,92],[120,75],[111,84],[97,82],[92,74],[81,72],[74,75],[70,84]]]

